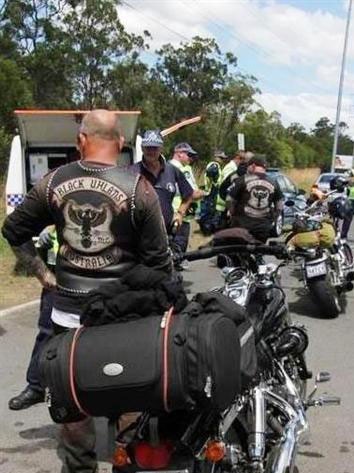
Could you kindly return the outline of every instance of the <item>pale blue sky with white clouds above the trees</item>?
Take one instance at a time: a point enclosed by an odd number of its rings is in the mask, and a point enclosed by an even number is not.
[[[257,102],[284,125],[336,117],[349,0],[124,0],[127,30],[152,35],[151,51],[196,35],[214,37],[238,58],[238,71],[258,79]],[[153,61],[151,56],[146,57]],[[354,137],[354,6],[341,120]]]

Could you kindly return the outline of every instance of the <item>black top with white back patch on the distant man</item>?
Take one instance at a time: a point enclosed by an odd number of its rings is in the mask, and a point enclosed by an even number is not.
[[[235,179],[228,195],[234,201],[233,226],[257,232],[273,226],[276,204],[283,198],[279,185],[264,173]]]

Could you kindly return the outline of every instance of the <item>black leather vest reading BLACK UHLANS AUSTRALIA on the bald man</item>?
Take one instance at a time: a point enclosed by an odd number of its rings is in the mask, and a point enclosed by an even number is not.
[[[47,199],[58,233],[59,290],[85,294],[136,264],[138,180],[135,172],[81,161],[53,173]]]

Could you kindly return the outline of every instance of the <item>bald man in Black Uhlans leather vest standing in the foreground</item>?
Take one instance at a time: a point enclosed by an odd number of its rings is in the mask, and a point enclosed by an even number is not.
[[[16,256],[54,292],[57,333],[80,324],[86,294],[138,263],[171,272],[158,197],[145,178],[117,167],[124,143],[114,113],[94,110],[81,124],[81,161],[45,176],[5,220],[2,232]],[[55,224],[56,275],[36,255],[32,237]],[[64,471],[97,469],[92,419],[62,429]]]

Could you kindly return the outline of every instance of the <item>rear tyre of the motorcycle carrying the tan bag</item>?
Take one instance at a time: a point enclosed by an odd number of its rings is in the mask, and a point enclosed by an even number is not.
[[[312,279],[307,281],[310,296],[320,307],[320,315],[325,319],[335,319],[341,312],[339,294],[327,279]]]

